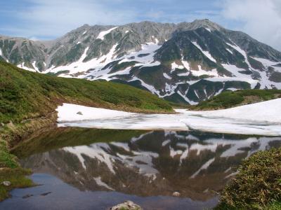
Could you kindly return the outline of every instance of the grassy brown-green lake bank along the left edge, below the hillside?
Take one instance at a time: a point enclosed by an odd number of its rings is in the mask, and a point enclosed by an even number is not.
[[[56,125],[57,113],[48,113],[47,116],[24,120],[24,122],[13,124],[12,122],[1,127],[0,134],[0,202],[10,197],[9,192],[14,188],[28,188],[34,186],[31,179],[26,176],[31,175],[30,169],[20,166],[18,158],[11,153],[11,148],[21,141],[39,135],[41,130]],[[4,186],[3,181],[10,181],[10,186]]]

